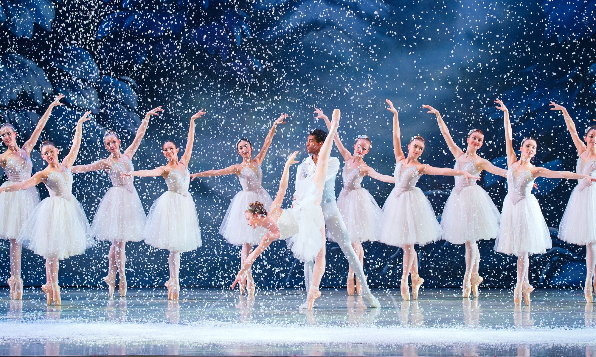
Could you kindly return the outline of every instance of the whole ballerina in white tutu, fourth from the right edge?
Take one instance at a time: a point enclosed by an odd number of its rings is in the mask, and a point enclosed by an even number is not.
[[[471,179],[479,179],[479,177],[465,170],[421,164],[418,161],[424,151],[424,139],[421,136],[412,137],[408,143],[408,156],[405,156],[401,147],[398,110],[393,107],[393,103],[389,99],[386,102],[389,105],[387,110],[393,113],[395,188],[389,193],[389,197],[383,205],[377,237],[381,243],[403,249],[400,287],[402,299],[409,300],[408,275],[411,275],[412,297],[416,300],[424,279],[418,275],[418,256],[414,246],[434,242],[443,234],[429,199],[424,196],[421,189],[416,187],[418,179],[423,174],[464,176],[466,182]]]

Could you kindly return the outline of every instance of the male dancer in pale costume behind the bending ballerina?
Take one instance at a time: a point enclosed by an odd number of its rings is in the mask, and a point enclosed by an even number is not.
[[[309,156],[298,165],[296,182],[307,179],[315,173],[319,151],[325,141],[325,137],[327,137],[327,132],[321,129],[315,129],[309,133],[308,139],[306,139],[306,152],[308,152]],[[331,156],[327,165],[327,177],[325,179],[325,188],[323,189],[323,197],[321,199],[321,208],[323,210],[323,216],[325,217],[325,228],[327,229],[328,234],[331,234],[337,240],[339,247],[347,258],[347,262],[356,274],[358,281],[360,281],[362,285],[362,296],[370,302],[371,307],[378,308],[381,305],[368,288],[367,278],[364,275],[362,264],[360,264],[358,255],[352,248],[350,237],[347,234],[346,224],[343,221],[339,209],[337,209],[335,181],[338,171],[339,159]],[[307,292],[311,287],[312,268],[312,261],[305,262],[304,280]],[[300,305],[300,308],[306,309],[306,305],[305,302]]]

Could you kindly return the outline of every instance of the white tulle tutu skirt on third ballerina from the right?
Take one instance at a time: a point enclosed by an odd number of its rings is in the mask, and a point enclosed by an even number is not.
[[[443,239],[453,244],[496,238],[501,214],[486,191],[474,184],[451,192],[443,215]]]

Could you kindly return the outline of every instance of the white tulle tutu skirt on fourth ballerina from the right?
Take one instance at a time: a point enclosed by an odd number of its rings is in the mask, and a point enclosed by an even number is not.
[[[399,196],[395,189],[392,190],[381,211],[377,230],[379,242],[398,247],[426,245],[442,234],[433,206],[420,188],[415,187]]]

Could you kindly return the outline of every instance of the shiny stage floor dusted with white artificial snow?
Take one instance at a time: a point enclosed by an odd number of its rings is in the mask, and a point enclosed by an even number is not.
[[[522,308],[511,290],[425,289],[409,302],[377,290],[372,309],[326,289],[312,312],[297,309],[302,290],[183,289],[168,302],[165,289],[110,300],[66,288],[60,308],[40,292],[14,302],[0,290],[0,355],[596,356],[596,309],[581,290],[538,289]]]

